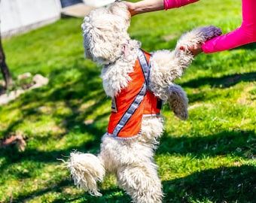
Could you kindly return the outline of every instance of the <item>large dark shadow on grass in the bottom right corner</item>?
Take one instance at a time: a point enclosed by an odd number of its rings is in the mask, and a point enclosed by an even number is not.
[[[255,202],[256,168],[221,167],[163,182],[166,203]]]

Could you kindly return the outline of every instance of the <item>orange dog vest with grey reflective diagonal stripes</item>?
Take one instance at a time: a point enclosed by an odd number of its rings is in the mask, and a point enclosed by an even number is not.
[[[148,89],[150,57],[150,53],[139,50],[134,71],[129,74],[132,80],[112,98],[107,135],[121,139],[136,138],[142,129],[142,116],[160,114],[162,101]]]

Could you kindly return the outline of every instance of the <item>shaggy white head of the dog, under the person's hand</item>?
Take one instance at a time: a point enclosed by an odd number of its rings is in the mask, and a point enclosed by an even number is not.
[[[129,26],[130,12],[122,2],[91,11],[81,26],[85,57],[98,64],[115,62],[130,39]]]

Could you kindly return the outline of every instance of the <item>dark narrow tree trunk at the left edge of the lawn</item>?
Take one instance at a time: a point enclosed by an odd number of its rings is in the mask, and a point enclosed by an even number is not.
[[[0,0],[0,5],[1,5],[1,0]],[[0,25],[1,25],[1,20],[0,20]],[[8,89],[8,87],[12,83],[12,80],[11,80],[11,73],[9,71],[8,65],[5,62],[5,52],[2,47],[1,32],[0,32],[0,68],[3,74],[3,77],[5,79],[5,89]]]

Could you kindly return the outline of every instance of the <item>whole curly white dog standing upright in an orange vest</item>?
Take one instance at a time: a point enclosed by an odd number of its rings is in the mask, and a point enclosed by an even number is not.
[[[221,35],[215,26],[182,35],[175,50],[146,53],[127,33],[130,12],[122,2],[98,8],[82,24],[85,56],[103,65],[105,93],[112,98],[108,132],[100,152],[70,153],[66,167],[75,185],[100,196],[97,182],[114,173],[117,184],[133,202],[162,202],[163,191],[154,162],[154,151],[163,134],[162,102],[175,115],[187,119],[187,96],[173,82],[194,60],[188,47]]]

